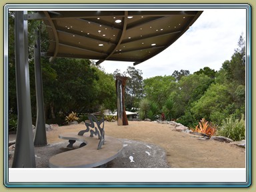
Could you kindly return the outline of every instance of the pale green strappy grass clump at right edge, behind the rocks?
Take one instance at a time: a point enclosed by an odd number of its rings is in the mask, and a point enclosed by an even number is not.
[[[245,119],[242,115],[241,119],[236,119],[234,115],[223,120],[217,135],[227,137],[233,141],[241,141],[245,139]]]

